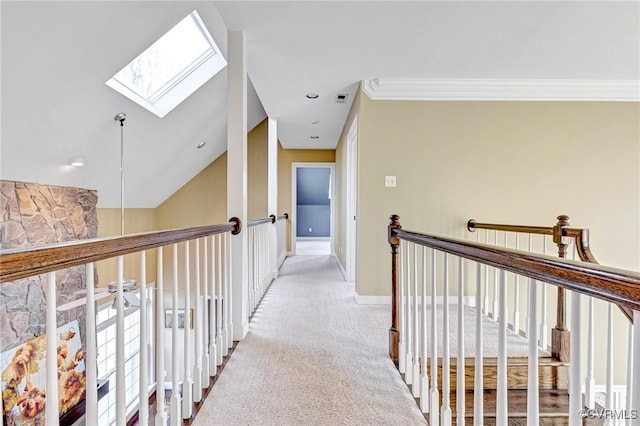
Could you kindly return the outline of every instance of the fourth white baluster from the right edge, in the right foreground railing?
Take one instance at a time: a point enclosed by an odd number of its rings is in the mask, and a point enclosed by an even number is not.
[[[506,426],[508,423],[507,402],[507,271],[500,270],[499,285],[500,307],[498,314],[498,382],[496,401],[496,424]]]

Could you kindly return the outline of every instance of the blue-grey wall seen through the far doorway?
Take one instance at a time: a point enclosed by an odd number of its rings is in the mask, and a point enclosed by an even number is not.
[[[299,167],[297,170],[296,235],[298,237],[330,237],[329,182],[331,169]]]

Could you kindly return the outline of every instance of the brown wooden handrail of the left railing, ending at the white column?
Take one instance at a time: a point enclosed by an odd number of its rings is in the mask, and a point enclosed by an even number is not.
[[[229,223],[219,225],[93,238],[26,249],[0,250],[0,282],[27,278],[223,232],[238,233],[240,229],[241,222],[232,218]]]

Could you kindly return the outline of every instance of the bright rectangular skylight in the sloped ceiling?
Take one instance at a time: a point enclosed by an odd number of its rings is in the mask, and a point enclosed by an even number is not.
[[[194,10],[106,84],[164,117],[226,65]]]

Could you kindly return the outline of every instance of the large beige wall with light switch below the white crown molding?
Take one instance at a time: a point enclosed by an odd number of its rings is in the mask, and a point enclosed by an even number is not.
[[[591,247],[602,264],[640,269],[637,103],[362,96],[359,142],[361,295],[389,295],[386,225],[392,213],[405,229],[456,238],[468,238],[470,218],[551,226],[558,214],[568,214],[573,226],[591,230]],[[397,176],[396,188],[384,187],[385,175]],[[524,315],[525,303],[520,306]],[[595,315],[606,318],[604,304],[596,305]],[[616,321],[616,363],[624,365],[628,322],[621,316]],[[606,336],[606,321],[596,323],[596,335]],[[604,365],[600,355],[596,365]],[[616,381],[624,383],[620,373]],[[604,373],[596,374],[602,382]]]

